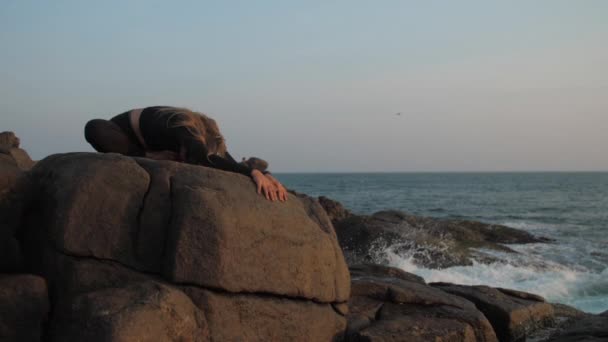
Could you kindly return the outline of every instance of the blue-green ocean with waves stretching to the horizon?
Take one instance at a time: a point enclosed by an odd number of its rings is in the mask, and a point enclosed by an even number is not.
[[[277,174],[285,186],[327,196],[359,214],[498,223],[555,239],[510,245],[502,262],[442,270],[390,255],[391,266],[427,282],[499,286],[540,294],[590,313],[608,310],[608,173]]]

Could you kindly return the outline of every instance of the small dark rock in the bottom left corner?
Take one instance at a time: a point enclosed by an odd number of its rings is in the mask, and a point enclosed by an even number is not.
[[[0,341],[40,341],[48,313],[43,278],[0,275]]]

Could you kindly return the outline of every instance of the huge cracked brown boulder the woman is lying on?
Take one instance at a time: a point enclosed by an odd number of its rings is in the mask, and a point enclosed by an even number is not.
[[[345,329],[349,272],[312,198],[270,202],[242,175],[115,154],[50,156],[30,178],[20,236],[51,285],[54,340],[329,341]]]

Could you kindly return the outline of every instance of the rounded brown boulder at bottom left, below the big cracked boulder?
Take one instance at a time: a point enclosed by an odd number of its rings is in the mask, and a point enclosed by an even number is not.
[[[182,291],[154,281],[59,302],[53,341],[209,341],[202,312]]]

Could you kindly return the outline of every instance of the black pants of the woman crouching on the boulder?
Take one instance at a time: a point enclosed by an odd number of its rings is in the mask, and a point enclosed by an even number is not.
[[[143,157],[146,151],[131,127],[129,112],[110,120],[94,119],[84,127],[84,138],[98,152],[114,152],[127,156]]]

